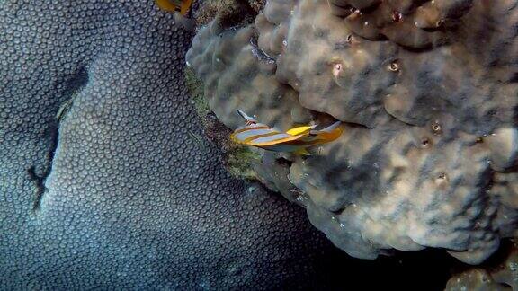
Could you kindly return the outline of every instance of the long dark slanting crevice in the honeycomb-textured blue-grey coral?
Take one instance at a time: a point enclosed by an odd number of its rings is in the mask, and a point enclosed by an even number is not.
[[[67,112],[72,106],[76,93],[81,91],[81,89],[85,87],[87,83],[88,73],[86,71],[86,67],[83,66],[78,69],[76,75],[73,78],[68,80],[67,89],[64,93],[64,96],[67,96],[67,99],[60,104],[55,118],[49,121],[49,127],[47,128],[44,135],[44,137],[49,140],[49,151],[45,155],[45,165],[43,167],[43,171],[40,173],[37,172],[36,166],[31,166],[29,169],[27,169],[29,179],[34,181],[36,187],[36,193],[32,203],[32,211],[35,213],[40,211],[41,202],[45,192],[47,191],[47,188],[45,187],[45,181],[52,171],[54,156],[56,154],[56,149],[58,148],[60,122],[66,118]]]

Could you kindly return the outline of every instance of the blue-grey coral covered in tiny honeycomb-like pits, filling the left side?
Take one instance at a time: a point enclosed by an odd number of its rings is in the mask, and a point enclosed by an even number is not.
[[[0,289],[317,282],[301,209],[190,138],[190,40],[153,1],[0,2]]]

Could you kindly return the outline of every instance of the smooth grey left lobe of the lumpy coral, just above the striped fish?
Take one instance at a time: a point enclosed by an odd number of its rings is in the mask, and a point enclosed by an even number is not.
[[[281,128],[308,122],[308,110],[290,86],[275,80],[272,58],[257,48],[253,34],[251,27],[222,31],[210,22],[193,40],[187,59],[204,80],[210,110],[230,128],[243,123],[236,109]]]

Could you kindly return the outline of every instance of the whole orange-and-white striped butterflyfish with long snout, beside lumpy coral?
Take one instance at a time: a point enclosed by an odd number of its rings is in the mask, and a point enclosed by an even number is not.
[[[316,129],[317,126],[302,126],[281,132],[258,122],[242,110],[237,110],[237,113],[246,120],[246,124],[236,128],[230,138],[238,144],[252,145],[274,152],[309,154],[309,146],[331,142],[344,131],[342,122],[336,121],[322,129]]]

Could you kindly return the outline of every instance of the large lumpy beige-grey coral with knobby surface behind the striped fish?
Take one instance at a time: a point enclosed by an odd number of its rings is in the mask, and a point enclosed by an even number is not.
[[[201,29],[187,60],[229,128],[237,109],[279,128],[344,121],[312,156],[262,168],[336,246],[478,264],[516,235],[517,7],[270,0],[246,27]]]

